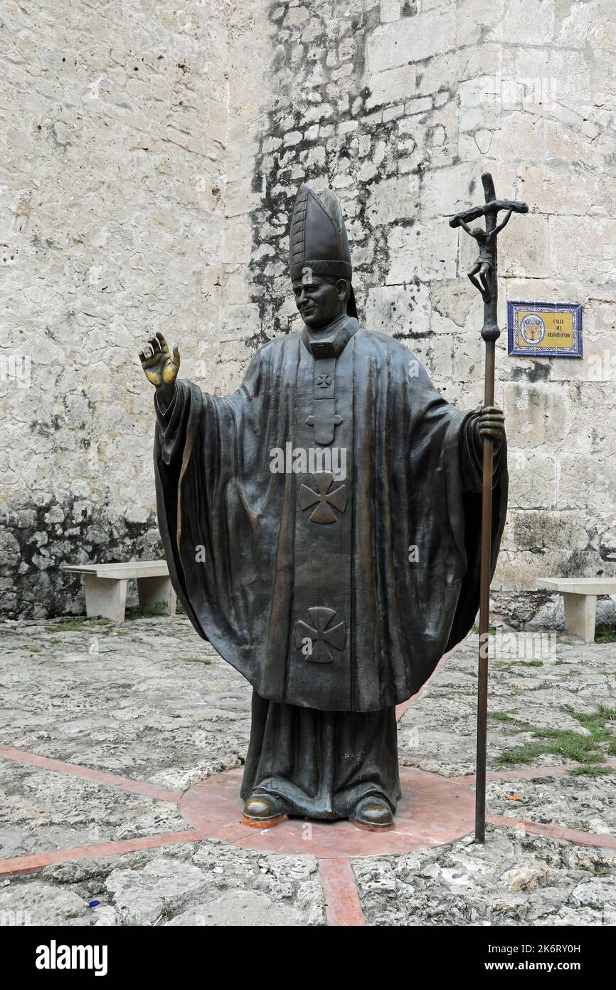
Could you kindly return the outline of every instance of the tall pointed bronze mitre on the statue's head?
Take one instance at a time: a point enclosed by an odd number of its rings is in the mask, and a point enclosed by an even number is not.
[[[351,252],[333,189],[317,196],[307,185],[300,186],[291,218],[289,262],[293,281],[302,278],[306,267],[314,275],[351,281]]]

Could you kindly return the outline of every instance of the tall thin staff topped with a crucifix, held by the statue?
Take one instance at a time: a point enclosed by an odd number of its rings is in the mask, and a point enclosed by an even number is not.
[[[528,213],[526,203],[515,200],[496,199],[494,183],[489,172],[482,175],[485,202],[469,210],[456,213],[449,221],[450,227],[462,227],[480,246],[480,256],[468,275],[480,290],[484,299],[485,342],[484,414],[496,418],[494,402],[494,357],[495,344],[500,337],[497,323],[498,272],[496,239],[499,231],[509,221],[512,213]],[[498,213],[506,210],[504,220],[498,224]],[[485,218],[485,230],[468,226],[479,217]],[[502,414],[500,414],[500,417]],[[475,792],[475,839],[485,841],[485,751],[487,735],[487,652],[489,630],[489,579],[491,560],[492,528],[492,462],[494,442],[488,430],[484,431],[484,470],[482,487],[482,556],[480,572],[480,646],[477,699],[477,771]]]

